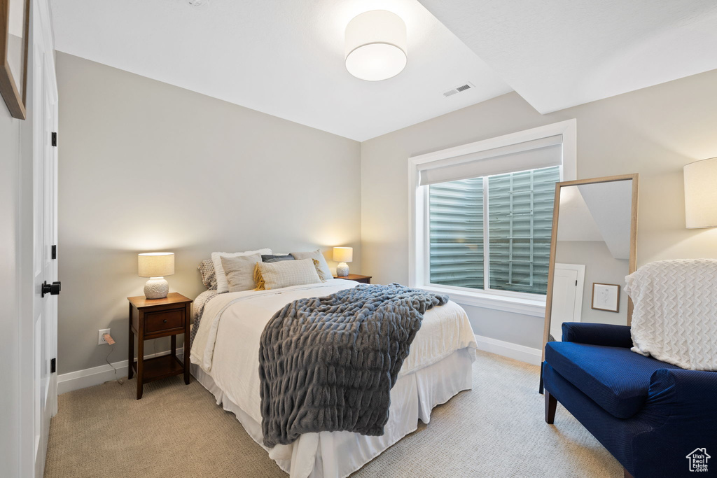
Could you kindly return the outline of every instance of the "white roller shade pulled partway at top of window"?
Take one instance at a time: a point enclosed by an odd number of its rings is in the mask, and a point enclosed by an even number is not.
[[[466,154],[419,165],[419,184],[445,183],[480,176],[549,168],[562,164],[563,135]]]

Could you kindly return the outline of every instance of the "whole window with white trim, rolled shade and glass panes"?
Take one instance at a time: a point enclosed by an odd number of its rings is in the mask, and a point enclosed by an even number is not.
[[[410,284],[542,316],[555,183],[575,179],[576,123],[409,160]]]

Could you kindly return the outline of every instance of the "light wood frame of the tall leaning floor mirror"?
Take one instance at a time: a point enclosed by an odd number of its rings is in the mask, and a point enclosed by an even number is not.
[[[637,191],[639,188],[639,176],[635,174],[624,174],[621,176],[606,176],[604,178],[579,179],[577,181],[563,181],[555,184],[555,202],[553,209],[553,231],[550,240],[550,262],[548,269],[548,291],[545,302],[545,325],[543,328],[543,350],[541,362],[545,361],[545,345],[550,338],[551,312],[553,307],[553,281],[555,274],[556,245],[558,242],[558,220],[560,216],[560,191],[566,186],[581,186],[584,184],[612,183],[614,181],[632,180],[632,206],[630,211],[630,259],[628,260],[628,274],[635,272],[637,268]],[[627,325],[632,322],[632,299],[627,297]],[[541,366],[541,386],[543,391],[543,371]]]

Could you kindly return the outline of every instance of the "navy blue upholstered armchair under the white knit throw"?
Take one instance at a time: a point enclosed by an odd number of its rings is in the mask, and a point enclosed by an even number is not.
[[[717,477],[717,372],[684,370],[631,347],[628,326],[565,322],[563,341],[545,350],[546,422],[560,402],[625,477]],[[715,457],[706,472],[690,471],[693,452]]]

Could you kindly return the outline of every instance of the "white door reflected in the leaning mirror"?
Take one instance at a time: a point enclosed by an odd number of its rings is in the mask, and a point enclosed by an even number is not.
[[[550,335],[554,340],[563,336],[563,322],[580,322],[585,266],[555,264]]]

